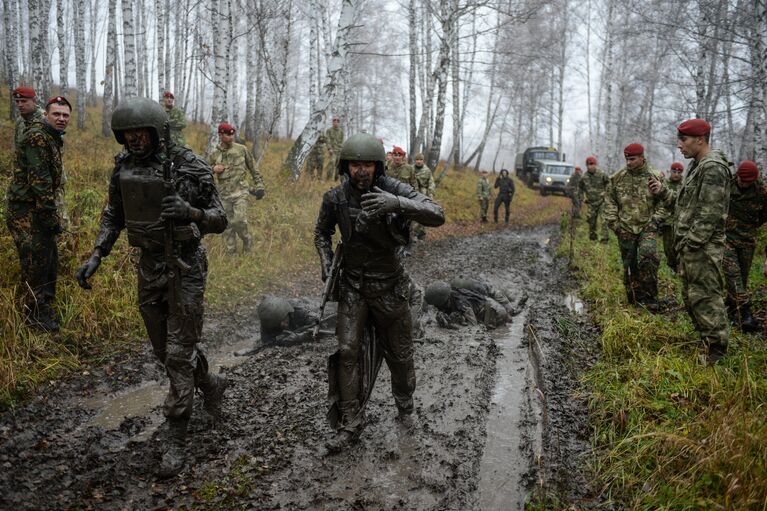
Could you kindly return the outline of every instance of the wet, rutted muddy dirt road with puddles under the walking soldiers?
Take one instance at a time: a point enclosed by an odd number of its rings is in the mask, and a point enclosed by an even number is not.
[[[209,358],[233,386],[223,423],[208,424],[196,403],[179,477],[153,475],[167,382],[146,350],[51,384],[0,418],[0,509],[506,510],[530,495],[587,501],[588,427],[575,377],[593,361],[593,337],[553,258],[556,232],[417,246],[407,262],[417,282],[481,276],[510,291],[516,315],[486,331],[442,329],[427,314],[412,424],[395,419],[384,368],[360,443],[327,456],[325,367],[335,340],[235,357],[258,339],[254,303],[207,319]],[[302,279],[298,288],[317,296],[318,283]]]

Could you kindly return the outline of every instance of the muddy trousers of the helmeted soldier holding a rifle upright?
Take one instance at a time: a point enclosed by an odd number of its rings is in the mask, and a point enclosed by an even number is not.
[[[171,307],[166,275],[163,271],[152,271],[153,260],[156,261],[156,257],[142,254],[139,263],[139,310],[152,350],[170,379],[163,412],[169,419],[189,419],[194,389],[200,386],[208,372],[208,363],[197,347],[202,333],[208,261],[202,246],[184,258],[192,267],[181,273],[181,282],[177,286],[179,304]]]

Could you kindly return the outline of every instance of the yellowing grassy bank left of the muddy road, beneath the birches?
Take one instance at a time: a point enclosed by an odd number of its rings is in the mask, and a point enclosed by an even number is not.
[[[7,93],[7,91],[5,92]],[[66,203],[71,216],[69,232],[60,240],[60,268],[55,307],[62,316],[56,336],[29,330],[20,314],[23,290],[13,241],[5,227],[5,191],[13,159],[13,123],[8,120],[7,102],[0,108],[0,409],[14,406],[41,384],[72,371],[99,364],[119,352],[139,349],[145,339],[136,307],[136,251],[125,236],[104,259],[91,279],[93,290],[81,290],[74,278],[88,257],[96,236],[100,211],[106,200],[113,155],[120,147],[113,138],[100,135],[100,108],[88,110],[86,129],[76,128],[76,115],[66,135],[64,164],[69,177]],[[187,140],[201,151],[207,126],[193,125]],[[210,256],[206,299],[208,311],[226,313],[243,303],[254,303],[268,289],[284,286],[295,274],[316,267],[313,245],[314,222],[322,194],[330,183],[303,177],[293,182],[280,172],[290,141],[274,141],[261,165],[267,195],[253,200],[249,209],[254,247],[250,254],[232,257],[224,253],[223,239],[209,236],[205,244]],[[430,230],[430,237],[464,235],[497,228],[480,225],[475,219],[476,175],[450,171],[437,192],[448,223]],[[540,199],[519,187],[512,206],[514,225],[556,221],[566,201]],[[319,278],[319,277],[318,277]]]

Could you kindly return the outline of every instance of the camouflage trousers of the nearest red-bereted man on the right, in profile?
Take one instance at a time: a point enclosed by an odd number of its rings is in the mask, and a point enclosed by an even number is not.
[[[682,297],[695,329],[709,343],[726,346],[730,338],[720,268],[724,245],[707,243],[678,253]]]

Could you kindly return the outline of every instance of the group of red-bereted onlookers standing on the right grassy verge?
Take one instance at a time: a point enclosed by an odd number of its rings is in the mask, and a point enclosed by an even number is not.
[[[707,360],[716,363],[727,352],[730,323],[744,332],[761,330],[751,312],[748,276],[758,230],[767,222],[767,186],[750,160],[732,175],[724,153],[709,145],[711,125],[705,120],[681,123],[677,135],[677,147],[692,160],[686,175],[674,162],[665,179],[638,143],[624,148],[626,165],[612,177],[589,156],[586,173],[576,167],[569,184],[573,217],[580,216],[585,198],[589,238],[607,243],[609,230],[615,232],[627,301],[651,312],[673,302],[658,300],[657,239],[663,240]],[[767,261],[763,271],[767,276]]]

